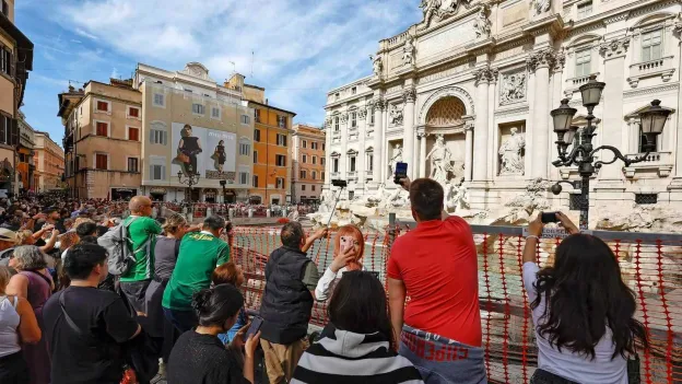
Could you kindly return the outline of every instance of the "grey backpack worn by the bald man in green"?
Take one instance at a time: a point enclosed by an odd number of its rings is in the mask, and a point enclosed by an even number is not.
[[[107,264],[109,274],[114,276],[128,274],[136,264],[134,255],[138,252],[146,248],[146,254],[150,254],[152,236],[142,243],[140,247],[132,251],[132,240],[128,236],[128,226],[137,219],[138,218],[132,218],[129,223],[121,222],[97,238],[97,244],[105,247],[109,254]]]

